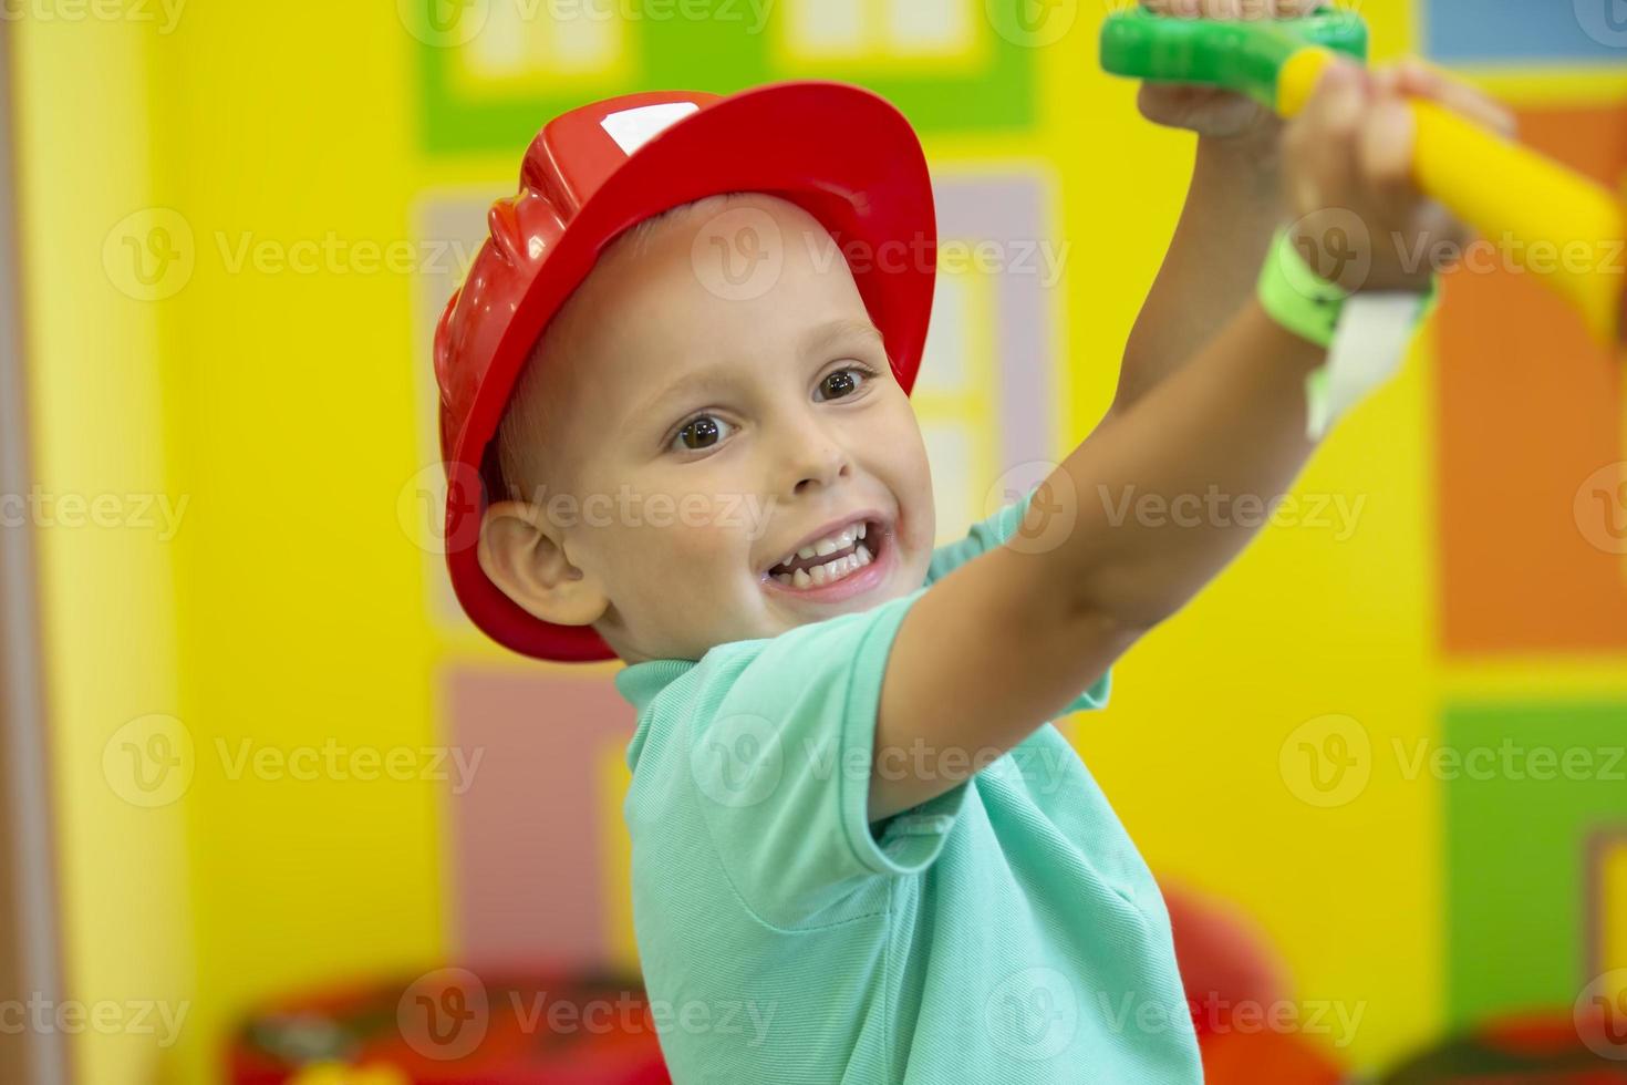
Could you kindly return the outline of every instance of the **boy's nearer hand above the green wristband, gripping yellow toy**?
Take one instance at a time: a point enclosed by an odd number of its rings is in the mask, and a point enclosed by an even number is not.
[[[1346,290],[1425,291],[1432,272],[1446,270],[1430,254],[1461,252],[1472,237],[1412,182],[1409,96],[1515,133],[1513,114],[1419,60],[1375,72],[1329,65],[1284,133],[1284,184],[1295,247]]]

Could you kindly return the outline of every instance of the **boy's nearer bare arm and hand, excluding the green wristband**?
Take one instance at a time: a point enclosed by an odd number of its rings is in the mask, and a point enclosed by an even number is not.
[[[1285,133],[1284,161],[1292,211],[1354,211],[1381,239],[1370,281],[1422,291],[1430,268],[1399,267],[1389,246],[1391,234],[1419,236],[1425,210],[1407,181],[1412,135],[1396,124],[1406,111],[1394,86],[1333,67]],[[1184,605],[1256,529],[1238,517],[1141,517],[1137,499],[1168,508],[1212,491],[1233,501],[1282,493],[1313,451],[1305,377],[1323,361],[1250,296],[1188,364],[1098,426],[1041,483],[1017,535],[934,584],[905,617],[882,683],[875,765],[949,765],[952,752],[981,768]],[[870,818],[958,782],[872,771]]]

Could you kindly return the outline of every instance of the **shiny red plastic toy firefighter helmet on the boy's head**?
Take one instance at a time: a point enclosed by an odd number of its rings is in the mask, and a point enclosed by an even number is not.
[[[592,626],[530,615],[486,579],[480,521],[499,493],[493,438],[532,346],[599,254],[630,226],[721,192],[768,192],[802,207],[844,251],[919,246],[919,260],[867,259],[854,283],[908,392],[921,364],[937,223],[926,158],[885,99],[825,81],[719,98],[623,94],[547,124],[519,192],[486,215],[464,286],[434,329],[446,464],[446,561],[464,612],[499,644],[556,660],[612,659]]]

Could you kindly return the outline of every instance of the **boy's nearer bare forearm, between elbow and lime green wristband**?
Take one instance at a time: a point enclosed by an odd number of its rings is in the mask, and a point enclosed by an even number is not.
[[[1098,426],[1035,496],[1022,545],[1048,590],[1126,628],[1180,610],[1259,530],[1315,451],[1305,377],[1326,355],[1248,299],[1189,364]],[[1058,509],[1072,506],[1071,529]],[[1046,547],[1053,532],[1061,540]],[[1035,540],[1041,540],[1035,545]]]

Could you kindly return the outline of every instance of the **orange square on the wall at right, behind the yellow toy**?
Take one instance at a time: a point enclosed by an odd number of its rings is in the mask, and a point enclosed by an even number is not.
[[[1526,109],[1520,124],[1620,187],[1627,107]],[[1627,254],[1601,255],[1627,273]],[[1599,483],[1627,460],[1622,363],[1534,260],[1484,241],[1435,322],[1440,628],[1455,657],[1627,647],[1627,506]]]

